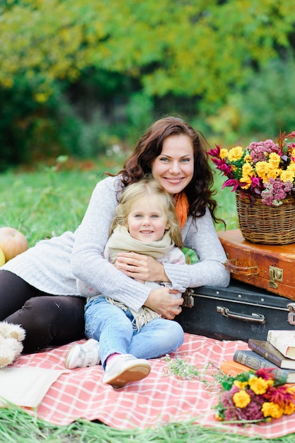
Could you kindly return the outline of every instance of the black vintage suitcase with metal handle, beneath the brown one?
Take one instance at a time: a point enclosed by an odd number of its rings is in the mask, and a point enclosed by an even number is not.
[[[192,289],[194,306],[177,321],[187,333],[218,340],[266,340],[269,329],[295,330],[295,302],[250,284]]]

